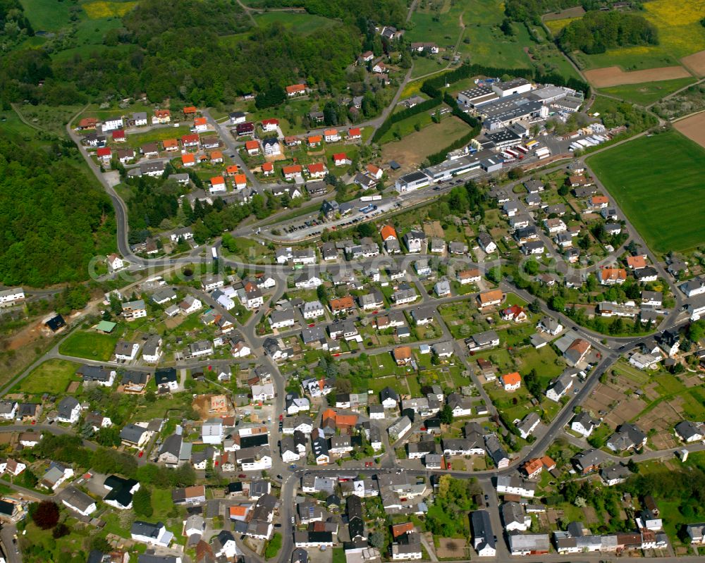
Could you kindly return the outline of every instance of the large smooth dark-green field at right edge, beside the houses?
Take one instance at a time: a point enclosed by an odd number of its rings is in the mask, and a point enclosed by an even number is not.
[[[587,161],[652,249],[678,252],[704,242],[705,149],[672,131]]]

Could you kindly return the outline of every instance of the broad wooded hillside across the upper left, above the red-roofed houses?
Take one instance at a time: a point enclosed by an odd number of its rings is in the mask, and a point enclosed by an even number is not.
[[[8,109],[23,99],[82,104],[145,92],[152,102],[215,106],[301,81],[330,92],[346,87],[346,68],[363,47],[372,49],[369,18],[403,23],[405,14],[399,0],[311,4],[312,13],[342,22],[325,34],[302,35],[278,23],[251,27],[242,8],[227,0],[142,0],[92,51],[56,59],[49,47],[9,51],[0,61],[0,98]],[[25,29],[21,7],[0,7],[0,17],[13,18],[6,27]],[[31,28],[24,33],[32,35]],[[376,42],[379,50],[379,36]]]

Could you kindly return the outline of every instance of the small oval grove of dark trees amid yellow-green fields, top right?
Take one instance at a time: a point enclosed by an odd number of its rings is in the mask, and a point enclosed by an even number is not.
[[[593,11],[563,27],[558,44],[564,51],[604,53],[613,47],[656,45],[658,30],[637,13]]]

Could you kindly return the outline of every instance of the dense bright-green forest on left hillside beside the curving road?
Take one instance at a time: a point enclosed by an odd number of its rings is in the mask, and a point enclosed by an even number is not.
[[[112,252],[109,197],[66,154],[0,136],[0,280],[43,287],[85,280],[93,256]],[[62,154],[63,152],[63,154]]]

